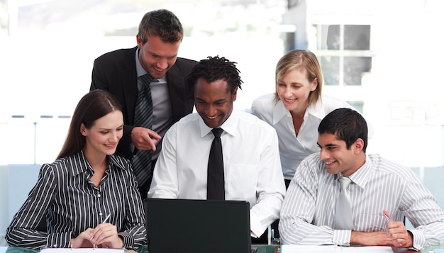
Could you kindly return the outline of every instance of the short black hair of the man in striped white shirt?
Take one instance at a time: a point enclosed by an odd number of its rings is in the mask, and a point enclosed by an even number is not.
[[[367,149],[367,131],[365,118],[350,108],[335,109],[328,113],[318,126],[319,134],[331,133],[335,135],[338,140],[345,141],[348,150],[358,138],[361,138],[364,141],[363,152]]]

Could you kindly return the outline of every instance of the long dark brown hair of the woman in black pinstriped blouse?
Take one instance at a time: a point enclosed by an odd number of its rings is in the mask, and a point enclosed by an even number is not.
[[[89,129],[96,120],[113,111],[122,111],[122,107],[108,91],[96,89],[84,95],[74,110],[65,143],[57,159],[70,157],[83,149],[86,138],[80,133],[82,123]]]

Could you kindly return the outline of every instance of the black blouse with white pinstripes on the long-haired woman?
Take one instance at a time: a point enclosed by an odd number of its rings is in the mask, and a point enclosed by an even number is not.
[[[70,247],[71,238],[107,221],[116,225],[123,247],[146,244],[145,216],[131,162],[108,156],[109,165],[98,187],[83,152],[43,164],[37,184],[6,230],[10,246],[40,249]],[[47,232],[36,230],[46,219]]]

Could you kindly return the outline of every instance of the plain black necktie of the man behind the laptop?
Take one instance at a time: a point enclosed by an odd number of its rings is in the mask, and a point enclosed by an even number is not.
[[[222,128],[213,128],[214,135],[208,159],[208,178],[206,181],[206,199],[225,199],[225,185],[223,180],[223,155],[221,134]]]

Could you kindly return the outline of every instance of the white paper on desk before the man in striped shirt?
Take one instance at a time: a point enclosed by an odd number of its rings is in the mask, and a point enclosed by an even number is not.
[[[336,245],[287,245],[281,247],[282,253],[393,253],[392,247],[340,247]]]

